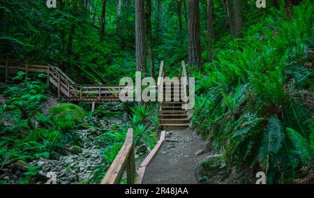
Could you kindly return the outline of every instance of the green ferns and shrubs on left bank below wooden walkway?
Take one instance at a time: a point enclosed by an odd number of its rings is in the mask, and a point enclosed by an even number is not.
[[[80,145],[81,142],[75,133],[83,114],[80,107],[61,104],[71,108],[64,108],[59,113],[57,106],[54,113],[44,115],[41,107],[45,106],[47,95],[41,79],[45,75],[23,80],[24,75],[19,72],[13,79],[18,84],[3,92],[8,99],[6,106],[0,107],[1,169],[16,170],[21,164],[26,165],[34,159],[57,158],[60,154],[66,154],[66,145]],[[38,173],[35,167],[27,169],[18,183],[31,183]]]

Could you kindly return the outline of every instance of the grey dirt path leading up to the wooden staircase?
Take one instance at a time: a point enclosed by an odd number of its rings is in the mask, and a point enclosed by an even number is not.
[[[190,184],[197,183],[194,169],[207,156],[206,142],[190,129],[166,132],[165,143],[156,158],[147,167],[143,183]],[[195,154],[200,152],[201,154]]]

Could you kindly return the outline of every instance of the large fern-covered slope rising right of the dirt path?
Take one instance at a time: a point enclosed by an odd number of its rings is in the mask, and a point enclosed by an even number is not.
[[[313,11],[310,1],[288,18],[274,10],[195,73],[193,125],[230,167],[264,171],[267,183],[313,170]]]

